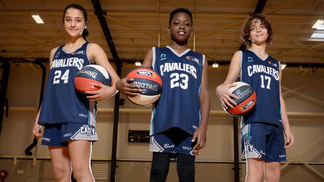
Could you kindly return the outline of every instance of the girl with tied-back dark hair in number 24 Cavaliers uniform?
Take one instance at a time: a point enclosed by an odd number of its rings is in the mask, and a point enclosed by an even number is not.
[[[120,79],[104,50],[86,41],[89,33],[84,7],[68,5],[64,9],[63,25],[69,41],[50,52],[50,73],[33,134],[42,139],[42,145],[48,146],[57,182],[70,182],[72,170],[77,182],[94,182],[90,157],[92,141],[98,140],[97,101],[114,95],[117,90],[115,85],[95,84],[99,90],[86,92],[90,94],[87,97],[78,96],[74,88],[75,75],[82,67],[97,64],[110,73],[113,83]],[[40,125],[45,126],[42,137]]]

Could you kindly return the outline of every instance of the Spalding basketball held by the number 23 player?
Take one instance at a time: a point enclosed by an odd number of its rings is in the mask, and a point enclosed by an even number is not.
[[[132,78],[132,85],[140,86],[141,95],[129,97],[132,102],[139,105],[151,105],[156,102],[162,93],[162,80],[159,75],[152,69],[146,67],[138,67],[133,69],[127,78]]]

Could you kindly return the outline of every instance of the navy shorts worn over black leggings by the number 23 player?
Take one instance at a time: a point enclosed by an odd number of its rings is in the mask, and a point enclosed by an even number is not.
[[[180,128],[168,130],[150,137],[150,151],[163,153],[180,153],[193,156],[193,147],[197,142],[191,142],[192,135]]]

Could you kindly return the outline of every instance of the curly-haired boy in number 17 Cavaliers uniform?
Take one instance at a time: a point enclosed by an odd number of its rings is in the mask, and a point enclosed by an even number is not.
[[[241,35],[249,49],[233,55],[225,82],[216,88],[225,108],[236,105],[230,97],[238,97],[228,89],[235,86],[232,83],[237,78],[249,84],[257,94],[254,110],[241,118],[241,151],[247,164],[246,182],[261,182],[263,174],[266,182],[279,182],[280,161],[287,160],[285,149],[294,144],[281,91],[281,65],[266,52],[272,34],[270,21],[263,14],[249,17]]]

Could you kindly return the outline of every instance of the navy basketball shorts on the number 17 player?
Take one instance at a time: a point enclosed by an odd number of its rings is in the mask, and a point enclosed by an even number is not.
[[[242,159],[260,158],[269,162],[287,161],[284,132],[277,125],[256,122],[241,129]]]

